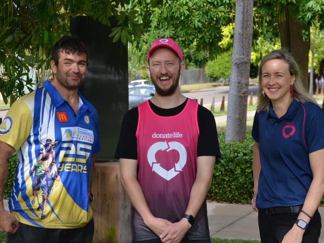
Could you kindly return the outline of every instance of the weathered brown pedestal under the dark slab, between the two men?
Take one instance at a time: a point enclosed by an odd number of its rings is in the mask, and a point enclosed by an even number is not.
[[[92,243],[130,243],[131,202],[121,184],[118,162],[95,163]]]

